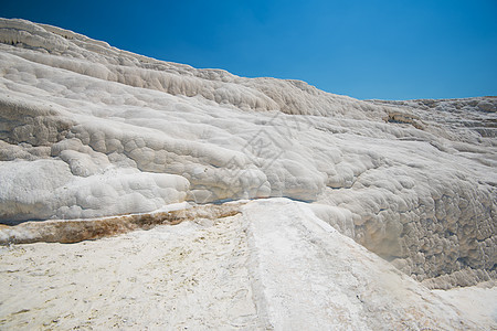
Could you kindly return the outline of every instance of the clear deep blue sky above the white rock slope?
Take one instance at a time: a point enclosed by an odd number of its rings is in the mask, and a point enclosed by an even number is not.
[[[360,99],[497,95],[497,0],[2,0],[0,17]]]

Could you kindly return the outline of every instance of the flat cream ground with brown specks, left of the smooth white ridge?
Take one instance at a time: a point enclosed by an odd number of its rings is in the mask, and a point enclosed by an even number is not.
[[[1,247],[0,329],[254,329],[240,216]]]

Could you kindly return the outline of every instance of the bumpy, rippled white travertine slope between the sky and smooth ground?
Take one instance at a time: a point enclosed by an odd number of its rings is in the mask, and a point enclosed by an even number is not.
[[[0,20],[0,222],[287,196],[434,287],[496,277],[494,97],[360,102]]]

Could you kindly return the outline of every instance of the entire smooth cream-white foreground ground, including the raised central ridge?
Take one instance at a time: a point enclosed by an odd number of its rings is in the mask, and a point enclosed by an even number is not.
[[[495,293],[430,291],[285,199],[0,247],[0,330],[490,330]]]

